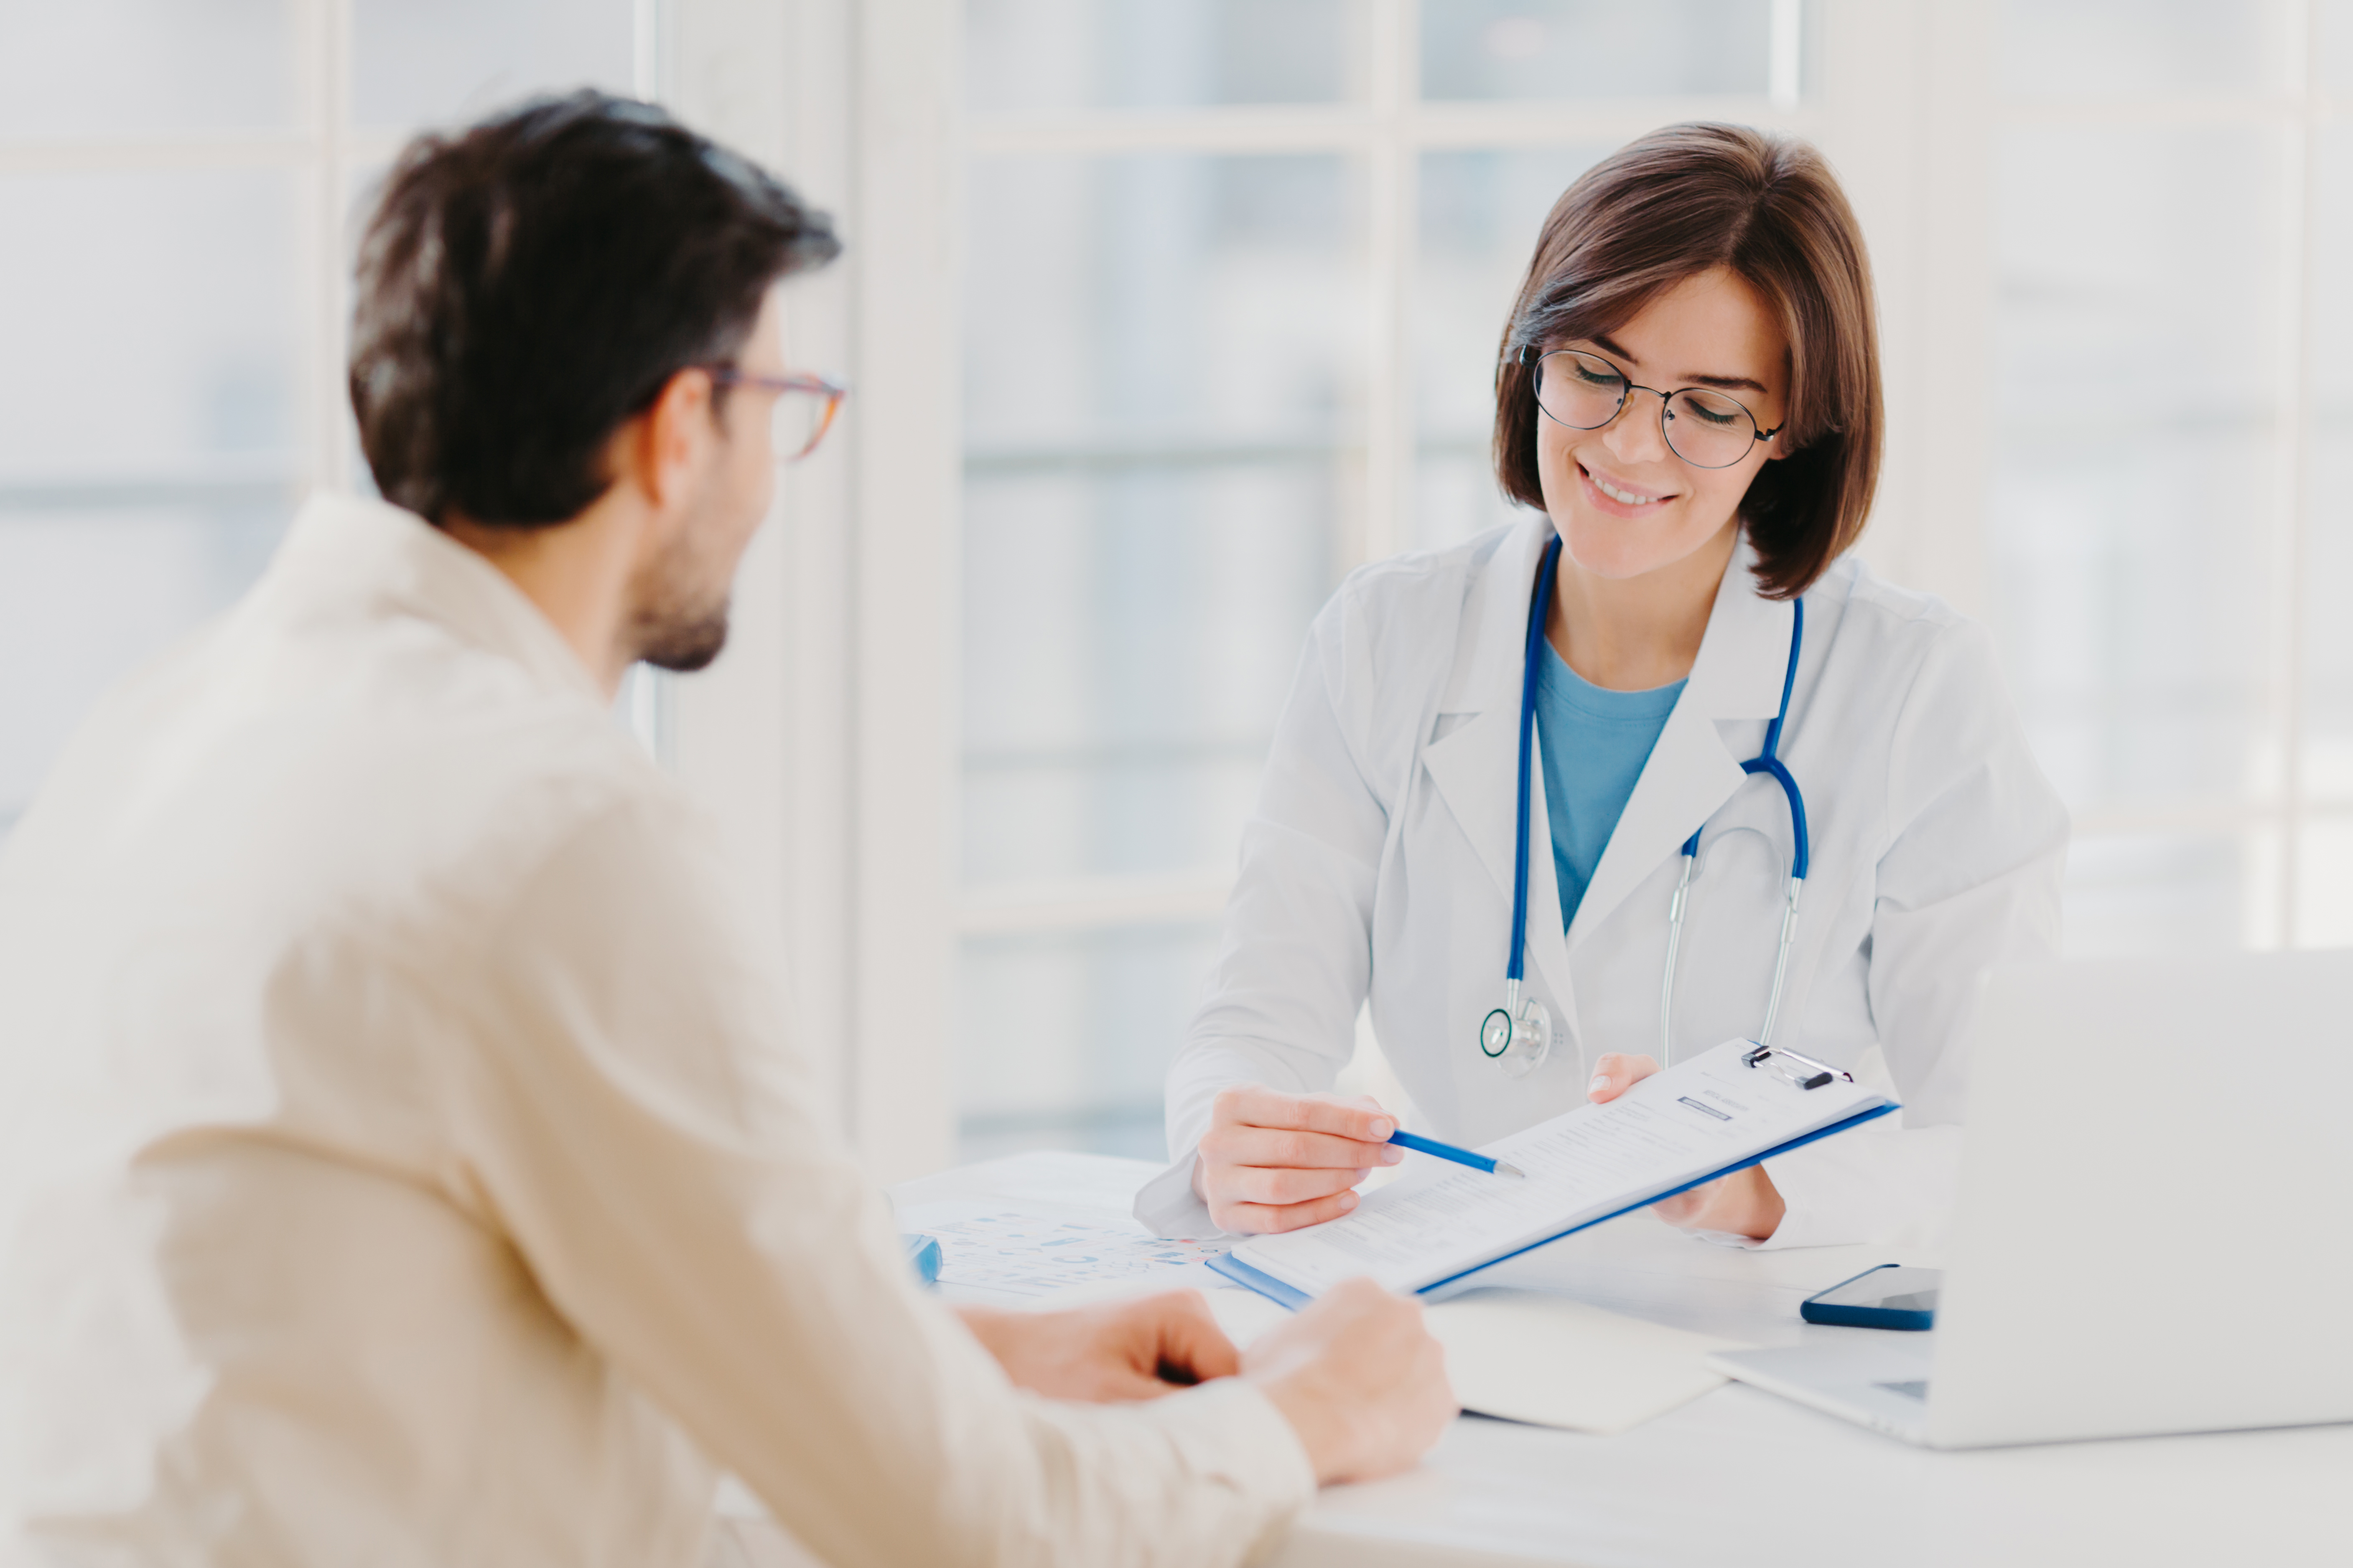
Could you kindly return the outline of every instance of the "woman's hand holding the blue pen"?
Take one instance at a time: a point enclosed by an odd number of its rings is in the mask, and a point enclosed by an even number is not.
[[[1398,1119],[1358,1095],[1287,1095],[1231,1084],[1209,1107],[1193,1161],[1193,1192],[1219,1229],[1271,1234],[1337,1220],[1355,1187],[1405,1150],[1386,1143]]]

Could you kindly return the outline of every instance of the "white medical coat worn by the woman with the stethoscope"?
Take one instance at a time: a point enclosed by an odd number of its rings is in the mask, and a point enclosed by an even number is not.
[[[1217,1091],[1329,1091],[1367,1001],[1424,1128],[1464,1145],[1581,1105],[1605,1051],[1659,1056],[1666,912],[1701,825],[1675,1048],[1762,1027],[1793,839],[1781,790],[1741,762],[1781,705],[1793,609],[1755,592],[1741,541],[1565,933],[1532,769],[1525,985],[1553,1011],[1553,1051],[1513,1079],[1478,1048],[1504,1001],[1522,637],[1548,536],[1529,515],[1365,567],[1315,618],[1169,1070],[1176,1159],[1136,1199],[1146,1225],[1214,1229],[1191,1175]],[[1892,1084],[1904,1112],[1767,1161],[1788,1204],[1769,1246],[1922,1239],[1958,1173],[1977,976],[2059,947],[2066,809],[1986,632],[1854,557],[1805,592],[1779,755],[1805,792],[1812,872],[1774,1037]]]

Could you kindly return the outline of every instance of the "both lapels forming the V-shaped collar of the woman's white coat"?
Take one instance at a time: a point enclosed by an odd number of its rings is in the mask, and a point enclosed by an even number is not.
[[[1511,898],[1518,839],[1513,776],[1520,752],[1520,682],[1527,649],[1527,602],[1537,562],[1551,538],[1548,517],[1529,515],[1475,569],[1466,602],[1464,654],[1438,712],[1445,736],[1424,750],[1424,764],[1501,896]],[[1753,741],[1748,719],[1781,710],[1793,609],[1755,590],[1755,550],[1744,536],[1732,552],[1692,677],[1659,731],[1659,745],[1635,780],[1593,884],[1562,936],[1553,884],[1551,830],[1537,759],[1529,792],[1527,952],[1560,1006],[1569,1006],[1567,950],[1581,943],[1664,858],[1732,799],[1746,773],[1737,752]],[[1468,646],[1464,646],[1468,644]],[[1732,726],[1732,733],[1725,726]],[[1539,889],[1551,903],[1539,903]],[[1501,957],[1501,954],[1499,954]],[[1501,969],[1497,971],[1501,978]]]

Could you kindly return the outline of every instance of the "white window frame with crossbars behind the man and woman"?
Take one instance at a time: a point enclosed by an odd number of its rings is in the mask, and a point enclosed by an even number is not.
[[[1407,538],[1417,172],[1426,150],[1619,141],[1675,118],[1741,118],[1814,139],[1873,240],[1889,451],[1864,552],[1889,578],[1988,611],[1986,454],[1993,449],[1993,167],[2009,125],[2066,118],[2247,122],[2287,158],[2287,301],[2275,381],[2280,484],[2266,520],[2266,733],[2285,757],[2257,804],[2087,813],[2078,839],[2273,835],[2271,914],[2245,945],[2299,943],[2301,837],[2353,818],[2304,792],[2311,557],[2313,209],[2320,134],[2318,7],[2297,26],[2304,71],[2278,94],[2005,103],[1993,7],[1932,0],[1762,0],[1774,7],[1765,99],[1421,103],[1421,0],[1365,0],[1367,89],[1351,103],[967,115],[962,2],[635,0],[638,87],[781,169],[852,244],[786,292],[788,355],[856,388],[840,428],[786,473],[776,520],[736,595],[729,658],[661,682],[645,729],[718,816],[772,922],[788,1027],[871,1171],[939,1168],[955,1150],[953,976],[974,936],[1080,933],[1214,919],[1231,879],[1186,872],[967,891],[958,851],[960,524],[953,287],[969,160],[1016,153],[1344,153],[1365,167],[1372,346],[1360,428],[1365,508],[1334,541],[1353,567]],[[1431,0],[1435,2],[1435,0]],[[348,484],[344,411],[348,205],[360,169],[400,139],[348,125],[351,0],[294,0],[299,113],[287,132],[139,141],[7,141],[5,172],[299,172],[306,280],[304,468],[289,489]],[[953,371],[953,364],[951,364]],[[1304,628],[1301,628],[1304,630]]]

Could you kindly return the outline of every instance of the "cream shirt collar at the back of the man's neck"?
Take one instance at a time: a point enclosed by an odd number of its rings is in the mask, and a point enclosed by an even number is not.
[[[471,646],[511,658],[548,691],[607,705],[572,644],[504,571],[384,501],[311,496],[271,562],[264,595],[287,616],[431,621]]]

